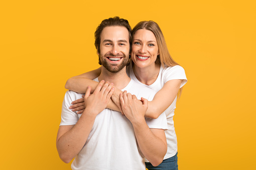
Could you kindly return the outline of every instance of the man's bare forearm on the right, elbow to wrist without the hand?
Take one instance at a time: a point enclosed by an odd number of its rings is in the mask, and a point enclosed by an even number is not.
[[[138,145],[144,156],[153,166],[163,160],[167,151],[167,144],[162,129],[150,129],[145,120],[133,123]]]

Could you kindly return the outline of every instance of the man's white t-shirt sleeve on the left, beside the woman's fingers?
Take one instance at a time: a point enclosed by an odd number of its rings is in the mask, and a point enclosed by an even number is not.
[[[60,126],[62,125],[74,125],[78,121],[78,114],[75,111],[69,109],[71,106],[71,102],[75,100],[74,94],[68,90],[64,96],[64,100],[62,102],[62,109],[61,109],[61,122]]]

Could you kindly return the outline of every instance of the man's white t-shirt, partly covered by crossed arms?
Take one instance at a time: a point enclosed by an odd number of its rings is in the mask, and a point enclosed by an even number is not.
[[[98,81],[98,78],[95,79]],[[155,92],[133,80],[123,89],[131,94],[153,99]],[[60,125],[75,124],[80,114],[69,109],[71,102],[82,94],[67,91],[62,103]],[[167,129],[165,114],[157,119],[146,118],[150,128]],[[120,112],[104,109],[96,116],[86,144],[75,156],[72,169],[145,169],[144,155],[137,145],[132,123]]]

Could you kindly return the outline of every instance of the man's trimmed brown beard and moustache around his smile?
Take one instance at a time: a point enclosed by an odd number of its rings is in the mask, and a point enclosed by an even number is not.
[[[122,63],[119,63],[119,64],[111,64],[109,62],[107,62],[108,58],[106,57],[122,57],[122,59],[120,60],[123,60]],[[113,55],[113,54],[105,54],[103,57],[100,56],[100,60],[101,60],[101,64],[102,66],[104,66],[109,72],[111,73],[117,73],[119,72],[120,70],[122,70],[128,63],[129,61],[129,57],[128,56],[125,56],[125,54],[121,53],[119,55]]]

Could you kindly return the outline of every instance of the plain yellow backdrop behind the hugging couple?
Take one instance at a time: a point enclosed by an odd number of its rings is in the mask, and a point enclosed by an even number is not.
[[[1,169],[70,169],[55,138],[65,81],[98,68],[94,32],[157,22],[188,83],[179,169],[256,169],[255,1],[1,1]]]

